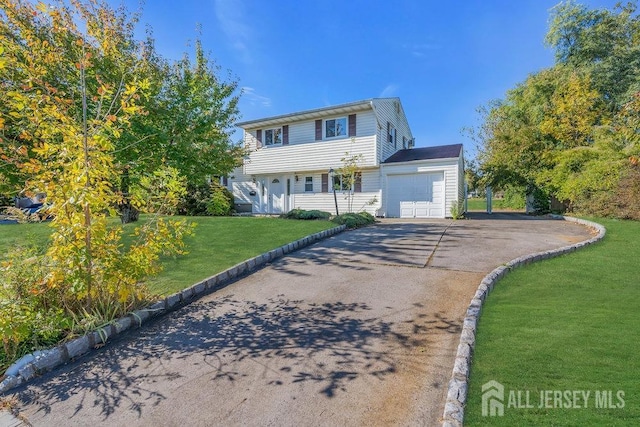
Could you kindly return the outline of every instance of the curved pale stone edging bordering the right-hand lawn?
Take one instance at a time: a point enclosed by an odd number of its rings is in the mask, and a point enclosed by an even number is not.
[[[580,243],[564,246],[559,249],[524,255],[513,259],[507,264],[496,268],[482,279],[475,296],[471,299],[471,303],[469,304],[469,308],[467,309],[467,313],[464,318],[462,333],[460,334],[460,343],[458,344],[458,352],[456,353],[453,372],[451,373],[451,380],[449,381],[449,388],[447,391],[447,400],[444,406],[444,413],[442,415],[443,427],[462,426],[464,420],[464,407],[467,403],[469,370],[476,342],[476,326],[482,310],[482,304],[498,280],[516,267],[531,264],[532,262],[543,259],[554,258],[569,252],[574,252],[577,249],[598,242],[606,233],[606,229],[595,222],[573,217],[564,217],[562,215],[550,215],[550,217],[553,219],[575,222],[593,228],[597,231],[597,235]]]

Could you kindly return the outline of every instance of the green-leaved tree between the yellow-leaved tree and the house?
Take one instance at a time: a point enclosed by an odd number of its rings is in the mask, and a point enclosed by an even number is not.
[[[157,55],[150,37],[143,52],[150,81],[143,102],[146,114],[132,120],[116,147],[124,222],[129,219],[131,185],[141,176],[170,166],[194,187],[228,175],[244,154],[231,139],[239,118],[237,81],[220,78],[201,41],[195,42],[193,60],[185,53],[174,64]]]

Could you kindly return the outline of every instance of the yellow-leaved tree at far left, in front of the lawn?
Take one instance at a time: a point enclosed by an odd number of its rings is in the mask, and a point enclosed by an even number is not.
[[[121,197],[115,142],[133,117],[145,114],[148,82],[135,19],[98,0],[56,6],[0,0],[0,8],[0,159],[22,174],[26,191],[46,194],[52,218],[45,251],[2,265],[0,335],[7,351],[34,333],[18,327],[29,320],[25,310],[82,323],[145,302],[144,278],[159,270],[162,254],[184,250],[191,227],[163,216],[184,192],[170,167],[143,180],[135,203],[156,215],[132,242],[123,243],[122,227],[109,218]]]

